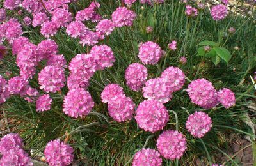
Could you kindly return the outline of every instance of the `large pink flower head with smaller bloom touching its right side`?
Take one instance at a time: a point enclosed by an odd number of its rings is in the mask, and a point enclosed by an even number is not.
[[[191,102],[204,109],[211,109],[218,103],[217,91],[206,79],[193,80],[188,85],[187,92]]]

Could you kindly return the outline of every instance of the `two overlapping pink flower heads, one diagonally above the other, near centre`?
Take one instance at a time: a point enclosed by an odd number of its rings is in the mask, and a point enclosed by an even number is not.
[[[126,97],[122,87],[118,84],[109,84],[101,93],[102,102],[108,103],[108,112],[115,121],[131,120],[135,104],[131,98]]]

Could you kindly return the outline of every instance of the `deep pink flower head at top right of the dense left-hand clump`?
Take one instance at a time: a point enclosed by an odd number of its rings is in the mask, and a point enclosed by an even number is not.
[[[42,40],[41,43],[38,44],[37,49],[42,59],[48,59],[52,54],[57,54],[58,45],[54,40],[47,39]]]

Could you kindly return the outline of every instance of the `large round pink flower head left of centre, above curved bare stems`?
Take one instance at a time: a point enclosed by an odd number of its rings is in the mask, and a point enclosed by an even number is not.
[[[83,88],[70,89],[64,97],[63,112],[70,117],[82,117],[89,114],[94,106],[92,97]]]

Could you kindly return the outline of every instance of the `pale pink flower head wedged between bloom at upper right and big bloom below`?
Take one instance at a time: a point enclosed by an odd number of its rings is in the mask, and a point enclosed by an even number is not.
[[[143,97],[148,100],[157,100],[161,103],[167,103],[172,98],[172,89],[167,79],[157,78],[149,79],[145,87],[142,88]]]

